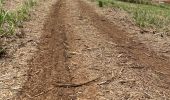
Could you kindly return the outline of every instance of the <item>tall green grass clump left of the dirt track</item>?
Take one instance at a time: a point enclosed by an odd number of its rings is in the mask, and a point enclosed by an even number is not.
[[[2,0],[1,0],[2,1]],[[35,0],[27,0],[15,11],[6,11],[0,7],[0,36],[9,36],[23,21],[29,18],[29,11],[36,4]]]

